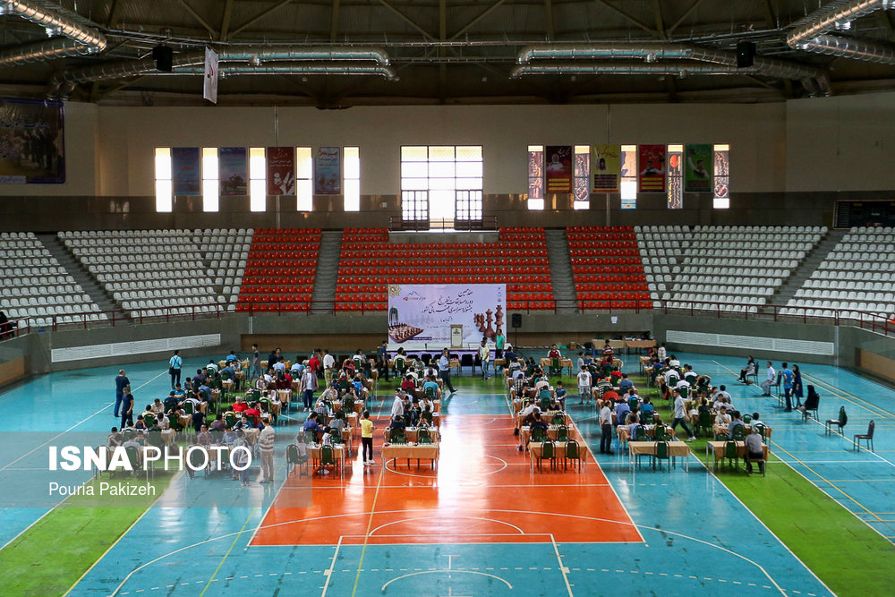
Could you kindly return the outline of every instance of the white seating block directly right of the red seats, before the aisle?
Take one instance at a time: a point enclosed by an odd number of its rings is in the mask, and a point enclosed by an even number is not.
[[[757,312],[810,252],[821,226],[636,226],[656,307]]]

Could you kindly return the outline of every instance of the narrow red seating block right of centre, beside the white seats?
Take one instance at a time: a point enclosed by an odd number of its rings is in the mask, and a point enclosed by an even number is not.
[[[634,228],[571,226],[568,254],[585,310],[652,309]]]

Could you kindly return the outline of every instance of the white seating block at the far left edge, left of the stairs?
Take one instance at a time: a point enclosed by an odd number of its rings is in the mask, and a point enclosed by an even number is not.
[[[33,233],[0,233],[0,311],[28,325],[105,320],[105,313]],[[20,324],[22,325],[22,324]]]

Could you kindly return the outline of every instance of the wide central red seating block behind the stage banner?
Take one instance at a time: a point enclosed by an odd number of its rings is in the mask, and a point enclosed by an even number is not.
[[[507,284],[507,310],[552,310],[543,228],[500,228],[498,243],[389,243],[385,228],[348,228],[336,311],[385,311],[388,284]]]

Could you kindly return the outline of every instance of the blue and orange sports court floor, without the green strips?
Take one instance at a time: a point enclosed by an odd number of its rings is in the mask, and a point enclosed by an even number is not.
[[[792,466],[895,541],[895,392],[848,371],[803,366],[805,383],[822,396],[822,421],[846,405],[846,437],[827,437],[823,424],[783,414],[776,400],[737,384],[740,359],[678,356],[726,383],[737,408],[762,414],[774,430],[771,451],[783,460],[771,466]],[[184,369],[202,362],[208,359],[189,360]],[[635,371],[635,359],[629,362],[626,369]],[[103,443],[115,424],[117,369],[30,380],[0,394],[0,407],[47,439],[90,432]],[[126,369],[138,407],[167,394],[163,364]],[[383,466],[377,438],[375,466],[362,466],[355,452],[344,478],[315,476],[307,507],[297,507],[288,492],[307,484],[286,479],[282,457],[302,418],[294,414],[291,425],[277,427],[274,484],[242,490],[226,475],[175,477],[68,594],[832,594],[727,488],[724,474],[712,474],[694,456],[688,472],[632,470],[617,450],[588,454],[581,472],[532,473],[527,455],[516,450],[497,381],[465,377],[456,387],[442,404],[435,471],[426,463]],[[384,399],[371,400],[378,419],[388,414],[391,391],[379,395]],[[584,440],[598,448],[595,412],[574,398],[568,404]],[[876,452],[858,453],[850,437],[870,419],[877,423]],[[17,471],[46,464],[38,438],[11,435],[0,439],[4,491],[14,487]],[[245,506],[245,491],[261,506]],[[46,513],[0,510],[0,545],[27,536]],[[13,548],[0,550],[0,565],[4,559],[15,561]],[[16,565],[28,574],[36,563]]]

